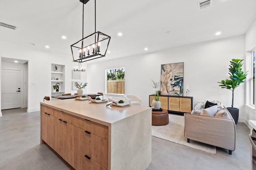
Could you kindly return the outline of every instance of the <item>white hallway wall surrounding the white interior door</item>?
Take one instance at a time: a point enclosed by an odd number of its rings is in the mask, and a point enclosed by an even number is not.
[[[21,80],[22,86],[20,105],[21,108],[28,107],[28,63],[19,64],[2,62],[1,68],[22,70],[23,79]]]

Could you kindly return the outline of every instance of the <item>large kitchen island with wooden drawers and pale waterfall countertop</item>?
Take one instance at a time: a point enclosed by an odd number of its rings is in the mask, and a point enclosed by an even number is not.
[[[151,162],[151,109],[66,99],[40,103],[41,144],[75,169],[145,170]]]

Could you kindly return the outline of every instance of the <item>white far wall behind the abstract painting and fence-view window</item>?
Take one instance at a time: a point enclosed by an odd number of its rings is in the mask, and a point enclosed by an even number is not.
[[[88,92],[105,92],[105,69],[125,67],[125,94],[138,95],[142,98],[142,105],[148,106],[148,95],[153,92],[150,79],[160,80],[161,64],[184,62],[184,86],[186,88],[186,85],[189,85],[190,96],[194,97],[194,101],[217,99],[222,101],[226,107],[230,107],[231,91],[221,89],[217,82],[228,78],[228,65],[231,59],[245,59],[244,51],[244,35],[241,35],[152,53],[88,63],[87,82],[90,84]],[[95,73],[97,73],[97,76],[95,76]],[[234,94],[234,106],[240,109],[241,118],[246,116],[244,113],[244,93],[245,85],[242,84]]]

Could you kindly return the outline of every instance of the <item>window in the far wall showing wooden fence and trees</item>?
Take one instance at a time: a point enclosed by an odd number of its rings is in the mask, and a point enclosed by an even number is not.
[[[106,69],[106,93],[124,95],[124,67]]]

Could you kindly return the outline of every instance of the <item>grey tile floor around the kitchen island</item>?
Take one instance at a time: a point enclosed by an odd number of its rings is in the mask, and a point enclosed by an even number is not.
[[[40,112],[3,110],[0,117],[0,170],[70,170],[64,160],[40,144]],[[236,150],[209,154],[152,137],[152,162],[146,170],[250,170],[250,129],[236,126]]]

